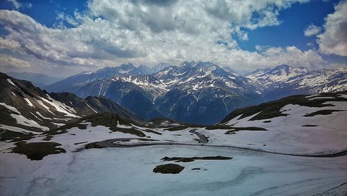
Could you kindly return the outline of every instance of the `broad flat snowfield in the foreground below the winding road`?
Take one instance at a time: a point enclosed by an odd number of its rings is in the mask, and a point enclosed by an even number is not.
[[[178,163],[155,174],[164,156],[231,156]],[[346,156],[305,158],[216,147],[89,149],[29,161],[0,154],[3,195],[312,195],[347,179]],[[201,170],[192,170],[201,168]]]

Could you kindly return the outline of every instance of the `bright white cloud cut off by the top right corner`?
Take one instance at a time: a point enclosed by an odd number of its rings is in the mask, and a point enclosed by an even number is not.
[[[323,54],[347,56],[347,1],[335,6],[335,13],[325,18],[324,32],[318,37],[319,51]]]

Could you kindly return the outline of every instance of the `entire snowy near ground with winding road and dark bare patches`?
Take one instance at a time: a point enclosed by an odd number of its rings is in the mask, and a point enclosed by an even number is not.
[[[6,107],[13,113],[20,109]],[[347,177],[343,172],[347,169],[346,117],[347,92],[298,95],[241,108],[209,126],[165,119],[138,122],[115,113],[92,113],[37,134],[8,137],[2,131],[0,177],[11,178],[4,178],[1,185],[5,195],[22,195],[28,189],[30,195],[67,194],[72,189],[94,195],[99,193],[95,186],[105,193],[137,195],[155,190],[159,194],[175,181],[169,195],[187,193],[187,186],[193,185],[194,192],[215,188],[221,195],[231,190],[247,195],[343,191],[339,186]],[[178,167],[179,174],[167,174],[171,169],[165,167],[171,166]],[[146,186],[135,188],[134,184],[149,178],[152,181]],[[177,182],[178,178],[189,181]],[[19,179],[22,186],[15,188]],[[217,179],[221,183],[214,183]],[[95,186],[86,190],[76,181],[93,181]],[[232,181],[238,183],[230,186]],[[259,181],[264,183],[246,188]],[[130,188],[119,188],[124,183]],[[298,183],[303,187],[294,188]]]

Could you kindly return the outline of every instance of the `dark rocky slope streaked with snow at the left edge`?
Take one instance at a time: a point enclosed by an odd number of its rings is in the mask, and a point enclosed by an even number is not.
[[[0,73],[0,93],[0,129],[8,131],[40,133],[101,112],[141,120],[105,97],[81,99],[70,92],[48,93],[31,82],[3,73]]]

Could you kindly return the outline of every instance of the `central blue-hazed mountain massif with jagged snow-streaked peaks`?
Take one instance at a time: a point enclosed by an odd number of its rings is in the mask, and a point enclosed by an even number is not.
[[[218,122],[235,108],[261,101],[244,77],[194,61],[152,75],[113,76],[65,90],[80,97],[104,95],[146,120],[169,117],[197,124]]]

